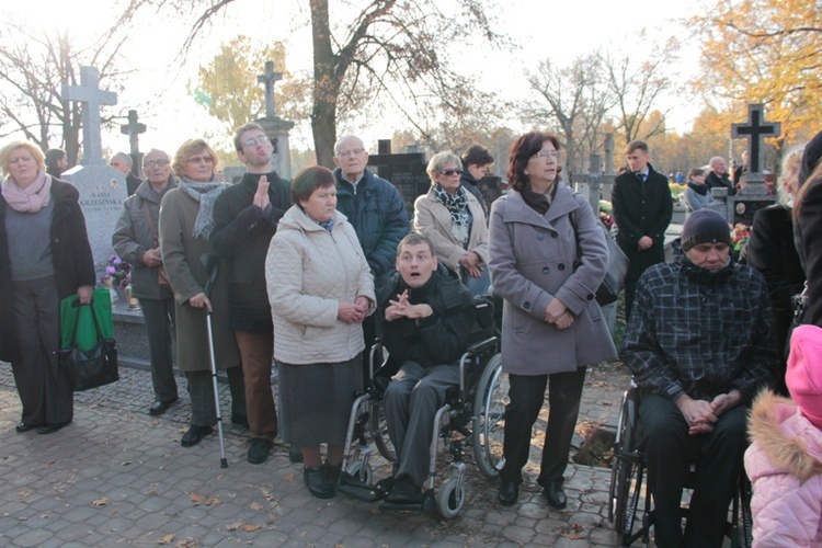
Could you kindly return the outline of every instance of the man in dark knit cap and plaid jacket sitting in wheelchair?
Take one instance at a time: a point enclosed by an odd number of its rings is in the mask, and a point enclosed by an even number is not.
[[[657,546],[721,546],[742,472],[747,404],[777,364],[764,277],[730,258],[724,218],[700,209],[682,251],[639,281],[619,353],[640,389]],[[696,465],[683,536],[683,480]]]

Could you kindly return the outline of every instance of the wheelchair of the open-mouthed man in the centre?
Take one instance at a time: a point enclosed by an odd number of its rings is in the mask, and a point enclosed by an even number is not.
[[[478,299],[477,306],[492,306]],[[492,313],[492,310],[489,310]],[[502,454],[505,406],[507,404],[507,375],[502,372],[502,356],[499,353],[499,339],[493,329],[486,330],[483,336],[470,344],[459,359],[459,386],[448,389],[445,404],[436,411],[433,435],[430,444],[429,477],[423,486],[421,502],[397,504],[384,502],[380,507],[388,511],[422,511],[438,513],[453,518],[463,510],[466,500],[466,452],[472,450],[480,472],[488,479],[499,476],[504,465]],[[476,340],[472,336],[472,340]],[[372,364],[384,349],[375,344],[372,350]],[[388,362],[384,356],[384,368]],[[352,406],[349,431],[343,450],[342,473],[338,491],[366,502],[383,500],[388,494],[384,483],[373,484],[372,457],[375,456],[370,442],[377,452],[392,464],[391,477],[396,471],[397,454],[388,437],[388,427],[383,409],[383,392],[388,381],[370,372],[372,383],[365,393],[358,396]],[[450,457],[442,486],[437,481],[437,457],[439,453]]]

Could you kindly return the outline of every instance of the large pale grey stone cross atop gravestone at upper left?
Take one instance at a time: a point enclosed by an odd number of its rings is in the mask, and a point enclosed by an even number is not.
[[[100,105],[117,104],[117,94],[100,89],[96,67],[80,67],[80,85],[62,85],[62,99],[82,103],[83,165],[105,163],[100,139]]]

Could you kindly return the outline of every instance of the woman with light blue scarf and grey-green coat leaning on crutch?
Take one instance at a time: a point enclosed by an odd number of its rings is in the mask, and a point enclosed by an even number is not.
[[[231,422],[248,423],[246,388],[240,351],[229,327],[228,272],[219,263],[210,295],[205,294],[208,272],[202,263],[212,253],[208,235],[214,229],[214,202],[225,185],[214,174],[217,156],[202,139],[191,139],[174,155],[172,168],[180,178],[160,207],[160,251],[165,274],[174,292],[176,352],[191,395],[191,427],[183,434],[183,447],[196,445],[212,433],[217,422],[208,356],[206,310],[212,311],[214,352],[217,367],[226,369],[231,389]]]

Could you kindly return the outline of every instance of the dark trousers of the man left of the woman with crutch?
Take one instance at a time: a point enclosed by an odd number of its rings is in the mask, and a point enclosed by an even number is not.
[[[174,298],[140,299],[140,308],[142,309],[142,318],[146,320],[155,398],[160,401],[174,401],[178,397],[174,362],[171,357]]]

